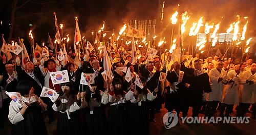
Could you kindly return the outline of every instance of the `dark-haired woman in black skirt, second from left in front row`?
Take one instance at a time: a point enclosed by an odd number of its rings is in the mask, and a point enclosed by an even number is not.
[[[79,134],[79,115],[77,110],[81,109],[84,93],[75,95],[71,82],[60,84],[63,96],[58,97],[52,108],[59,111],[57,122],[58,134]]]

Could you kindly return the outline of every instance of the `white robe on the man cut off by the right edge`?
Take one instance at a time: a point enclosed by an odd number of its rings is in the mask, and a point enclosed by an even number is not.
[[[241,97],[242,103],[255,103],[256,102],[256,74],[252,77],[251,70],[246,70],[241,74]],[[246,84],[246,80],[252,80],[253,84]]]

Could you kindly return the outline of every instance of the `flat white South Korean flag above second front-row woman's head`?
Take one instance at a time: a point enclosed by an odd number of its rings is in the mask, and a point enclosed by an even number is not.
[[[50,72],[53,85],[69,82],[68,70]]]

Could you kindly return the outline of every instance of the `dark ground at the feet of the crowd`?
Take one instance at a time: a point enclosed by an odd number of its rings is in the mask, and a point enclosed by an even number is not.
[[[151,134],[256,134],[256,120],[252,118],[249,119],[250,122],[248,124],[183,124],[180,120],[180,124],[166,129],[162,121],[165,113],[167,113],[165,109],[161,109],[160,113],[156,113],[156,123],[150,123]],[[188,116],[191,116],[191,108]],[[203,116],[203,114],[200,114],[200,116]],[[231,116],[234,116],[234,114],[232,113]],[[246,116],[251,115],[247,113]],[[48,121],[48,118],[46,117],[45,120]],[[4,121],[5,126],[0,128],[0,134],[11,134],[11,123],[7,118]],[[46,125],[49,134],[56,134],[57,120]]]

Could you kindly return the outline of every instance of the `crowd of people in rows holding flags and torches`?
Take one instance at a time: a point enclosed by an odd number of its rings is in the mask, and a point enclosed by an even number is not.
[[[25,68],[18,56],[7,62],[2,54],[1,117],[7,117],[8,112],[12,134],[47,134],[42,114],[48,116],[47,124],[57,119],[57,134],[149,134],[149,122],[156,122],[155,113],[162,106],[183,117],[189,107],[193,117],[216,116],[217,110],[221,117],[229,117],[236,106],[237,116],[244,116],[250,109],[255,118],[256,63],[250,58],[234,63],[232,58],[221,60],[216,55],[202,60],[199,54],[193,58],[186,52],[175,61],[165,57],[166,52],[154,58],[141,53],[132,64],[131,52],[109,52],[114,77],[106,82],[101,74],[102,53],[92,51],[76,61],[77,54],[71,52],[66,56],[68,61],[58,61],[49,50],[49,57],[33,59]],[[60,70],[68,71],[70,82],[54,85],[50,72]],[[130,81],[125,77],[128,72]],[[167,74],[164,81],[159,81],[161,72]],[[93,73],[94,83],[81,85],[81,73]],[[135,83],[137,76],[142,88]],[[59,94],[55,102],[40,97],[43,87]],[[22,105],[5,91],[20,93]]]

